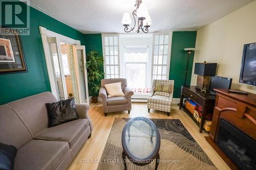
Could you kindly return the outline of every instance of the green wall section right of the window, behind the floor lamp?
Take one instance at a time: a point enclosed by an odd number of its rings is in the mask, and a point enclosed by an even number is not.
[[[195,47],[196,38],[196,31],[173,32],[169,80],[174,80],[174,98],[180,98],[181,86],[185,81],[185,70],[188,54],[184,51],[184,48]],[[191,53],[189,57],[186,85],[190,85],[193,60],[194,53]]]

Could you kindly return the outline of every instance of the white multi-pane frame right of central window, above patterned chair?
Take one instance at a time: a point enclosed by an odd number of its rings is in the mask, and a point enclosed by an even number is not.
[[[167,51],[167,64],[154,64],[154,54],[155,54],[155,35],[169,35],[169,41],[168,41],[168,51]],[[160,39],[160,38],[159,38]],[[153,81],[153,77],[154,77],[154,65],[155,66],[166,66],[166,80],[169,79],[169,69],[170,69],[170,53],[171,53],[171,48],[172,48],[172,39],[173,39],[173,32],[155,32],[153,33],[153,44],[152,44],[152,74],[151,74],[151,80]],[[163,40],[164,42],[164,40]],[[158,40],[158,51],[159,51],[159,40]],[[164,45],[164,43],[163,43]],[[164,50],[163,50],[164,51]],[[163,54],[162,54],[163,55]],[[158,53],[159,56],[159,53]],[[163,68],[162,68],[163,69]],[[158,70],[157,70],[158,71]],[[158,74],[157,74],[158,75]],[[163,74],[161,74],[161,77],[165,76]]]

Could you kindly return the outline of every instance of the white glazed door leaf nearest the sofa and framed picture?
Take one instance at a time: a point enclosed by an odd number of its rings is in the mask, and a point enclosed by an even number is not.
[[[68,94],[66,90],[67,88],[61,59],[59,40],[57,37],[47,37],[47,41],[49,43],[55,78],[55,88],[52,89],[52,93],[58,100],[66,100],[68,99]]]

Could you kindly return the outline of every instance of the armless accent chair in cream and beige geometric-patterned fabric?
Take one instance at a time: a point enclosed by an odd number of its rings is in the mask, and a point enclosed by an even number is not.
[[[160,110],[170,115],[173,102],[174,80],[153,80],[152,91],[147,98],[147,110]]]

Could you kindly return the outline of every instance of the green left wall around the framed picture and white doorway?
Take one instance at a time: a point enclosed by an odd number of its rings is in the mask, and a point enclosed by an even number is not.
[[[80,40],[84,45],[82,33],[30,7],[30,35],[20,36],[28,72],[0,75],[0,105],[51,90],[39,26]]]

